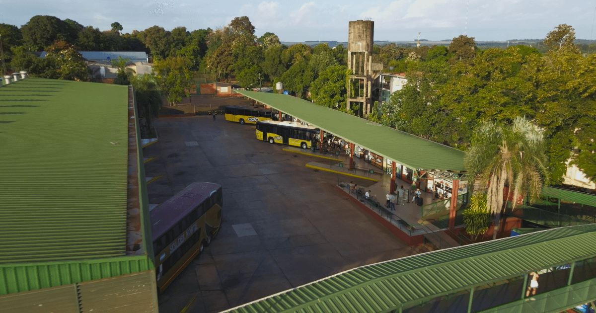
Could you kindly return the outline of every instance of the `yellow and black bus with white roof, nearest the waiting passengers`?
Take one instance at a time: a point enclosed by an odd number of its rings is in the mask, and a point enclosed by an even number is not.
[[[319,129],[296,122],[278,122],[265,120],[257,122],[256,135],[258,140],[269,141],[270,144],[296,145],[303,149],[310,148],[316,142]]]

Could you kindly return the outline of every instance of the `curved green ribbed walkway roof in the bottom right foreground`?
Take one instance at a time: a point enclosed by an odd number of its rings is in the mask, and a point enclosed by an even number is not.
[[[596,255],[596,224],[362,266],[225,312],[389,312]]]

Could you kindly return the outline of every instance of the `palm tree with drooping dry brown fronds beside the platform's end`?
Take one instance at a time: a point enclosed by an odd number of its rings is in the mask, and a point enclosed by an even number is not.
[[[544,150],[541,129],[525,117],[516,117],[505,126],[485,122],[476,130],[464,166],[474,193],[486,193],[486,208],[495,215],[493,239],[512,190],[513,208],[521,194],[530,199],[540,196],[547,176]],[[507,195],[505,184],[509,185]]]

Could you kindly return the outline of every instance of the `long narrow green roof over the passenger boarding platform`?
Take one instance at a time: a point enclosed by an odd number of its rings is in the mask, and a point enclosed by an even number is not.
[[[464,170],[464,152],[455,148],[290,95],[237,92],[408,168]]]

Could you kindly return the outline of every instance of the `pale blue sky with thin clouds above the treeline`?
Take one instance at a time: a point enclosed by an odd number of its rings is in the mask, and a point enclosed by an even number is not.
[[[273,32],[281,41],[347,41],[347,23],[371,18],[375,40],[451,39],[477,41],[544,38],[558,24],[570,24],[579,39],[594,39],[596,2],[588,0],[398,0],[398,1],[32,1],[0,0],[4,23],[21,26],[35,15],[70,18],[100,30],[118,21],[124,32],[159,25],[166,30],[224,26],[248,16],[256,35]],[[466,17],[467,16],[467,17]],[[466,27],[467,21],[467,27]]]

